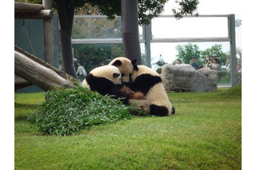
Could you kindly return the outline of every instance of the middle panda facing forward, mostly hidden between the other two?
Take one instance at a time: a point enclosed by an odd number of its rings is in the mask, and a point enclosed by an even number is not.
[[[126,57],[116,57],[110,61],[109,65],[114,65],[119,69],[120,73],[122,73],[122,83],[125,84],[130,81],[130,77],[134,73],[134,66],[137,67],[136,62],[137,59],[130,61]],[[130,93],[130,99],[144,99],[144,95],[141,92],[135,93],[130,88],[127,88],[126,85],[123,85],[121,90]]]

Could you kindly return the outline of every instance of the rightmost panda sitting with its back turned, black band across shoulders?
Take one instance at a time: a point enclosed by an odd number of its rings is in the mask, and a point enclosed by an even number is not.
[[[145,100],[130,100],[131,105],[140,105],[146,113],[160,117],[175,113],[162,85],[162,79],[153,69],[145,65],[135,65],[130,83],[126,83],[126,86],[145,95]]]

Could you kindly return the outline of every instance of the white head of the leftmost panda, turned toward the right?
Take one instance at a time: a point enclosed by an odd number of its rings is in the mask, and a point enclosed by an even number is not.
[[[103,65],[90,71],[94,77],[104,77],[114,83],[114,85],[121,85],[121,73],[114,65]]]

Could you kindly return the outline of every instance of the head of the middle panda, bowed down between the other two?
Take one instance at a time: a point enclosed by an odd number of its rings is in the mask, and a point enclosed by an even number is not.
[[[136,62],[136,59],[130,61],[126,57],[116,57],[110,61],[109,65],[114,65],[119,69],[120,73],[122,73],[122,82],[129,82],[130,76],[134,73]]]

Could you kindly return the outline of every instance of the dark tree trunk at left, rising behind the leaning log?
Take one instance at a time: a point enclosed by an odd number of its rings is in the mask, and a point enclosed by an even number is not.
[[[74,6],[69,0],[57,0],[59,21],[59,38],[62,51],[62,65],[66,73],[70,76],[78,78],[74,69],[74,61],[72,55],[71,33],[74,19]]]

